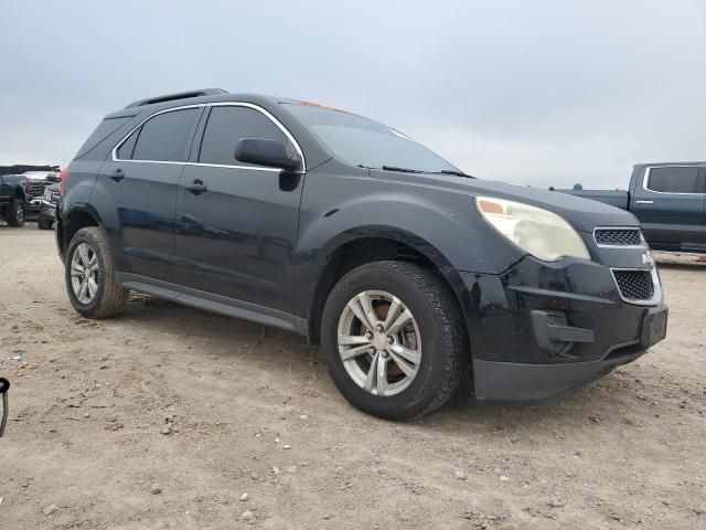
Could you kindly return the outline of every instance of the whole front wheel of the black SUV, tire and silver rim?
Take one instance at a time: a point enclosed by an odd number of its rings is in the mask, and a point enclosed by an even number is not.
[[[366,333],[370,326],[359,318],[366,307],[357,305],[361,299],[372,300],[367,305],[372,318],[365,314],[363,318],[375,327],[375,333]],[[375,318],[378,324],[373,322]],[[406,324],[395,329],[398,319]],[[353,351],[359,343],[366,348],[371,336],[370,351]],[[458,390],[470,360],[466,325],[451,289],[434,273],[404,262],[370,263],[341,278],[325,303],[321,338],[339,391],[355,407],[386,420],[418,417],[439,409]],[[377,372],[371,379],[374,363],[385,367],[382,380]]]

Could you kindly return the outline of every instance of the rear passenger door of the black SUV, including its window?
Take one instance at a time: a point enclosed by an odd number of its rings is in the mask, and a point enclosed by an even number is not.
[[[188,106],[149,117],[100,168],[92,201],[109,204],[105,223],[122,273],[172,278],[176,189],[202,112]]]

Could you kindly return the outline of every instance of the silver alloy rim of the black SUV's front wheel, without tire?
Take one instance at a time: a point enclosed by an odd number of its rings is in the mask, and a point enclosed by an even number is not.
[[[374,395],[398,394],[421,362],[421,335],[409,308],[382,290],[365,290],[343,308],[339,354],[351,379]]]

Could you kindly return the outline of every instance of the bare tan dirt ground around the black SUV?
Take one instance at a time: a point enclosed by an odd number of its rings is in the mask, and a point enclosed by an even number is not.
[[[391,423],[296,335],[139,296],[82,319],[53,236],[0,226],[2,529],[706,528],[706,263],[661,259],[667,339],[582,391]]]

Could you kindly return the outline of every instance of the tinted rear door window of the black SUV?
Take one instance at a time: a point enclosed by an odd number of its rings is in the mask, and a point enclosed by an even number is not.
[[[142,124],[128,140],[120,146],[118,155],[126,156],[133,144],[132,160],[154,160],[182,162],[186,160],[186,142],[194,126],[199,109],[185,108],[160,114]],[[122,158],[122,157],[119,157]]]

